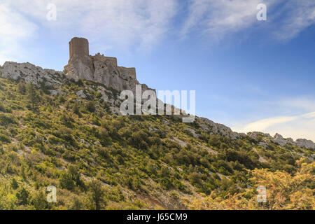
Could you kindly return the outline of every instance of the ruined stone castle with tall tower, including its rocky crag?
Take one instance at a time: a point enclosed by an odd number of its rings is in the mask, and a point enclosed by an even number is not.
[[[64,66],[64,74],[74,80],[84,79],[102,83],[118,91],[135,91],[139,85],[136,69],[118,66],[116,57],[89,55],[89,43],[85,38],[72,38],[69,43],[70,59]],[[143,90],[148,87],[143,85]]]

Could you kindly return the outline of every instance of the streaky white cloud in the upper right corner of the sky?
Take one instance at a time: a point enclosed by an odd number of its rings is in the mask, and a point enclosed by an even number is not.
[[[267,5],[267,22],[256,20],[259,3]],[[290,39],[315,24],[314,0],[190,0],[189,15],[181,36],[197,29],[211,41],[246,29],[262,28],[274,37]]]

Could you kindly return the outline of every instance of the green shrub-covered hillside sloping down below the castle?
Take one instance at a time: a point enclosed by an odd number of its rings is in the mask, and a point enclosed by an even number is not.
[[[0,78],[0,209],[229,209],[232,195],[253,201],[266,175],[300,180],[283,183],[286,192],[273,185],[287,195],[278,209],[314,209],[314,148],[205,118],[119,116],[117,90],[45,74],[38,87],[27,75]],[[57,203],[46,202],[47,186]]]

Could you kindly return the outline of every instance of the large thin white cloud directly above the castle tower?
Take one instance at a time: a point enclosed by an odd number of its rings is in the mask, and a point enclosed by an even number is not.
[[[176,0],[16,0],[11,8],[66,36],[85,36],[113,48],[151,50],[171,26]],[[48,3],[57,6],[57,21],[46,20]]]

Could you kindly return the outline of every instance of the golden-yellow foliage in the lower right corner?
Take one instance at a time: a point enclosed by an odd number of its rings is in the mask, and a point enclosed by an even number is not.
[[[254,169],[248,174],[251,188],[242,193],[228,195],[223,198],[216,192],[204,198],[188,200],[184,198],[190,209],[315,209],[314,183],[315,162],[307,164],[304,158],[297,160],[299,166],[294,176],[288,172],[270,172],[268,169]],[[267,202],[258,202],[258,186],[267,190]]]

